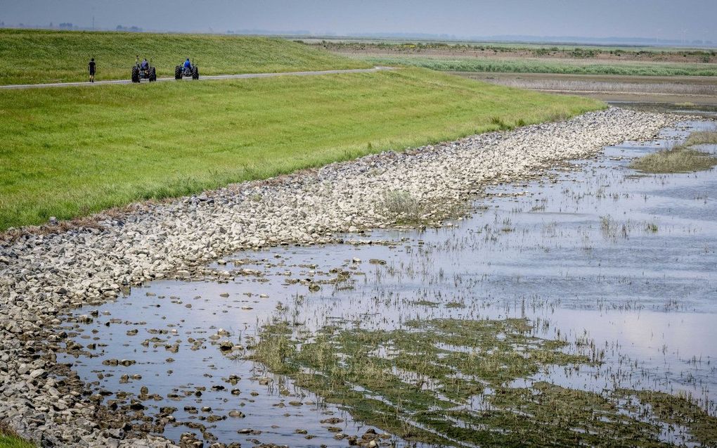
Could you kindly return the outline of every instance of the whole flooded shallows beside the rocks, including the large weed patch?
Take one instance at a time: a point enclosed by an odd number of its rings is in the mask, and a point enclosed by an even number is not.
[[[709,128],[495,187],[440,229],[133,288],[77,310],[65,330],[91,356],[58,361],[176,441],[714,443],[716,172],[627,168]]]

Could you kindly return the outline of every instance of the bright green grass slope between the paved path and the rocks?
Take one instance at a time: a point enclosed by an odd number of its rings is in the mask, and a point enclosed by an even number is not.
[[[0,229],[604,107],[420,69],[0,91]]]

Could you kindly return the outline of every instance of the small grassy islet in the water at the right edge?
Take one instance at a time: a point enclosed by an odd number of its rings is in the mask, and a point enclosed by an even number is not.
[[[717,158],[710,153],[692,148],[695,145],[705,144],[717,144],[717,132],[692,133],[682,145],[636,158],[630,162],[630,168],[655,174],[708,170],[717,166]]]

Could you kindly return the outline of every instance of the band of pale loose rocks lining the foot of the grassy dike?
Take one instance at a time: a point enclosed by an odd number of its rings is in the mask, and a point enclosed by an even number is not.
[[[121,216],[96,216],[99,228],[27,232],[6,241],[0,246],[0,421],[44,446],[171,446],[157,437],[136,439],[120,418],[108,419],[100,400],[82,394],[77,375],[55,363],[55,352],[72,350],[66,335],[53,330],[58,314],[99,305],[127,285],[192,277],[209,260],[240,249],[332,242],[336,232],[391,226],[396,216],[384,206],[388,191],[431,204],[435,213],[427,218],[437,219],[442,206],[488,184],[652,138],[679,120],[684,117],[610,108],[138,204]]]

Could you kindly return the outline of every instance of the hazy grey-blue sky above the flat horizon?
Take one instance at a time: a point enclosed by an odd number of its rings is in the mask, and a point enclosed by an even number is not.
[[[0,0],[6,24],[717,41],[717,0]]]

